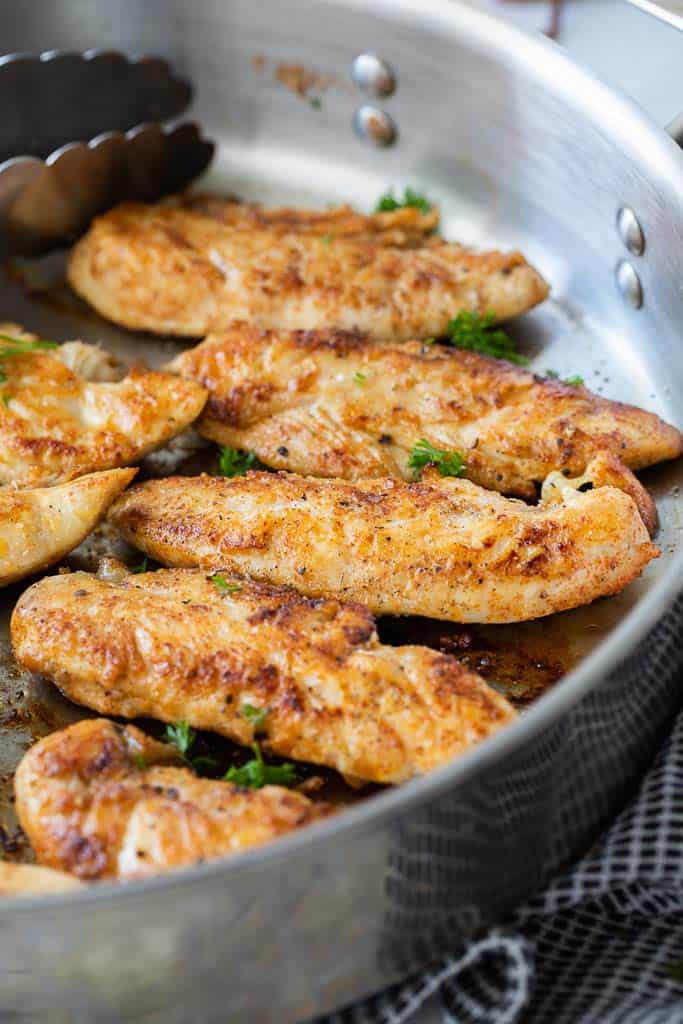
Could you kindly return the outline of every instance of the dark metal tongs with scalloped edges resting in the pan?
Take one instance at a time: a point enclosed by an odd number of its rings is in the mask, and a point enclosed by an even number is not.
[[[97,213],[201,174],[213,142],[195,122],[171,120],[191,95],[157,57],[0,57],[0,258],[68,245]]]

